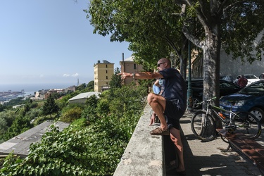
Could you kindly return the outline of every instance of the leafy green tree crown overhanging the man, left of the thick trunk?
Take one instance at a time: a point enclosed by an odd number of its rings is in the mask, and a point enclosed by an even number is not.
[[[86,12],[88,18],[89,15],[92,17],[94,33],[103,36],[112,33],[112,42],[131,42],[135,61],[144,65],[145,70],[156,68],[158,59],[170,57],[173,51],[181,61],[181,73],[185,77],[188,40],[182,34],[178,20],[174,16],[164,16],[161,11],[161,8],[165,11],[180,9],[173,2],[91,1]]]

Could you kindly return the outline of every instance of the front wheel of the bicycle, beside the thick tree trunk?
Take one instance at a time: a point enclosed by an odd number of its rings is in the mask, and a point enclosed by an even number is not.
[[[206,118],[203,122],[203,118]],[[191,118],[191,130],[198,139],[203,142],[211,141],[215,138],[215,120],[205,112],[199,111]]]

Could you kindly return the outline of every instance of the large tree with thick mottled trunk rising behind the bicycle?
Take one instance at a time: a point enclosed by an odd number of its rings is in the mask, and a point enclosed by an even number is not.
[[[130,11],[125,8],[126,6],[130,6]],[[122,8],[125,10],[122,11]],[[158,13],[151,13],[151,16],[146,13],[148,10]],[[155,39],[156,36],[163,36],[162,32],[169,39],[173,37],[180,39],[182,37],[178,31],[180,29],[184,36],[203,52],[203,100],[205,100],[220,95],[221,48],[225,49],[227,54],[232,53],[234,58],[241,58],[242,61],[246,60],[249,63],[262,58],[264,37],[260,32],[264,29],[264,23],[261,23],[264,17],[263,10],[263,0],[127,0],[91,1],[89,14],[92,15],[94,32],[97,31],[102,35],[112,33],[112,40],[126,40],[132,42],[132,45],[139,43],[139,49],[143,51],[146,51],[141,42],[146,39],[142,37],[143,35]],[[137,13],[141,11],[146,15]],[[137,15],[134,15],[134,12]],[[134,18],[127,18],[131,17],[128,14],[134,15]],[[161,18],[157,18],[158,15]],[[148,23],[151,21],[149,18],[158,20],[159,23],[153,23],[155,26],[151,25]],[[161,19],[168,25],[163,27],[160,23]],[[130,27],[131,30],[127,30]],[[137,38],[137,34],[142,40]],[[260,41],[256,42],[258,34],[262,36]],[[153,42],[153,40],[145,41]],[[154,42],[154,44],[162,43]],[[218,102],[217,99],[214,103],[218,105]]]

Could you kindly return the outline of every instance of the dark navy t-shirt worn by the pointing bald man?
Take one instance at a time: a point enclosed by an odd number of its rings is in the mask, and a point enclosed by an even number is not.
[[[187,107],[187,86],[182,75],[175,68],[159,71],[163,75],[161,96],[170,101],[179,100],[178,107],[185,111]]]

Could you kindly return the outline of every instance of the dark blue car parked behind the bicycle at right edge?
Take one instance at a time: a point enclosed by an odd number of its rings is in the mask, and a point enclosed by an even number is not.
[[[250,112],[256,115],[258,120],[264,118],[264,80],[253,82],[235,94],[222,96],[220,106],[225,110],[234,112]]]

